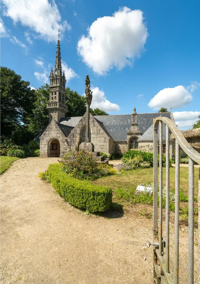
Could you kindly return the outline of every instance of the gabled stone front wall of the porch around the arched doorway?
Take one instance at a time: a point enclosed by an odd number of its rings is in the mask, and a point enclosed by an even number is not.
[[[57,139],[60,143],[60,156],[62,156],[67,149],[66,137],[55,120],[52,120],[40,137],[40,157],[50,157],[50,143],[54,139]]]

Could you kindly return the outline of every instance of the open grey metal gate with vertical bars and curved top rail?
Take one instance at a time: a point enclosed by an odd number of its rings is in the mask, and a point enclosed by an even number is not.
[[[158,225],[158,125],[159,153],[162,153],[162,123],[166,126],[166,227],[165,240],[162,226],[162,159],[159,159],[159,225]],[[169,129],[175,137],[175,225],[174,225],[174,279],[169,271]],[[153,283],[179,283],[179,151],[189,156],[189,214],[188,214],[188,283],[194,283],[194,161],[200,164],[200,154],[193,149],[174,122],[166,117],[153,119]],[[199,212],[200,214],[200,212]],[[165,253],[165,257],[164,257]]]

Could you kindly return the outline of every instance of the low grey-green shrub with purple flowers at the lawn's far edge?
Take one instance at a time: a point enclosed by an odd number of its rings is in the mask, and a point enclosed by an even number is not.
[[[129,171],[134,170],[135,168],[149,168],[150,164],[145,162],[143,158],[138,155],[135,158],[127,160],[126,163],[119,164],[117,169],[121,171]]]

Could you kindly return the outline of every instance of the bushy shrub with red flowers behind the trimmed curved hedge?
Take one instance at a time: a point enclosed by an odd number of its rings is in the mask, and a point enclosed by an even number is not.
[[[95,180],[115,174],[110,166],[97,163],[92,153],[83,150],[65,154],[63,164],[64,172],[80,180]]]

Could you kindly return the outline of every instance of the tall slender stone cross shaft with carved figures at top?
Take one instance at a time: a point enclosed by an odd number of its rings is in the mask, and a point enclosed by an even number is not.
[[[85,125],[85,142],[89,142],[90,133],[90,105],[92,102],[92,91],[90,90],[90,79],[86,75],[85,79],[85,98],[86,98],[86,125]]]

